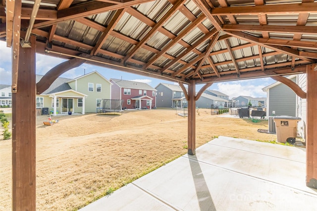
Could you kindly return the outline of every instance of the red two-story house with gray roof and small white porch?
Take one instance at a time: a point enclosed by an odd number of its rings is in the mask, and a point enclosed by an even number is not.
[[[157,90],[146,83],[110,79],[111,99],[124,100],[126,109],[152,109],[156,107]]]

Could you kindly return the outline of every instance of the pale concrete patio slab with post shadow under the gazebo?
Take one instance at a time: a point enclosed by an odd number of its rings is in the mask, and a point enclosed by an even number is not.
[[[317,210],[306,150],[220,136],[81,211]]]

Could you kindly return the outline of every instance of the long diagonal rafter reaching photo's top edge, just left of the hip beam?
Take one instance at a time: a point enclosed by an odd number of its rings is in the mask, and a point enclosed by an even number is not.
[[[175,13],[178,11],[179,7],[183,5],[185,0],[179,0],[175,3],[168,12],[159,20],[157,24],[147,33],[147,35],[140,41],[136,46],[124,57],[123,62],[129,60],[139,49],[142,47],[149,39],[163,26],[163,24]]]

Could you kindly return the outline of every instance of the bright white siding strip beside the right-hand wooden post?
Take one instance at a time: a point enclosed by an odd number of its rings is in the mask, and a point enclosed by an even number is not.
[[[307,75],[306,74],[299,74],[297,75],[297,84],[301,89],[305,92],[307,92]],[[302,99],[299,96],[297,96],[297,116],[302,118],[300,122],[298,122],[297,130],[299,135],[306,140],[306,120],[307,120],[307,114],[306,114],[306,99]]]

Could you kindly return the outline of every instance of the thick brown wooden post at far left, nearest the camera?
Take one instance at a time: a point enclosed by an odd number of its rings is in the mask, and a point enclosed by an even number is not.
[[[12,93],[12,210],[35,211],[35,52],[20,46],[16,93]],[[12,65],[13,66],[13,65]],[[14,76],[12,76],[14,77]]]

